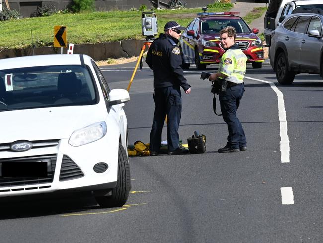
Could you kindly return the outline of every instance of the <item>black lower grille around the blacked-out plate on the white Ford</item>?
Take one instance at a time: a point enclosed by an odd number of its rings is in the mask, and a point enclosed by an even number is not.
[[[9,186],[22,186],[31,184],[51,183],[54,178],[55,165],[56,165],[56,154],[43,155],[43,156],[29,156],[20,158],[6,158],[0,159],[0,167],[2,168],[3,162],[47,162],[47,176],[45,177],[3,177],[0,174],[0,187]],[[29,188],[34,189],[34,188]],[[20,190],[20,189],[17,189]],[[23,189],[21,189],[23,190]],[[26,189],[27,190],[27,189]],[[9,190],[10,191],[10,190]],[[2,192],[0,190],[0,192]]]

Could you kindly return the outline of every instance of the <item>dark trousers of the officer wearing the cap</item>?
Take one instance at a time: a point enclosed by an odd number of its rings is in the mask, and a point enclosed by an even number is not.
[[[182,113],[180,87],[156,88],[154,95],[155,111],[150,132],[150,151],[158,152],[161,147],[161,133],[167,115],[168,151],[178,148],[178,128]]]

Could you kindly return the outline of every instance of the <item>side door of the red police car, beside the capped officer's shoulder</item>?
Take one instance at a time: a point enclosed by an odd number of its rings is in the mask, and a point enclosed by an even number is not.
[[[180,46],[183,52],[183,60],[185,63],[194,63],[194,40],[193,36],[187,35],[187,31],[193,30],[193,26],[197,20],[193,20],[180,38]]]

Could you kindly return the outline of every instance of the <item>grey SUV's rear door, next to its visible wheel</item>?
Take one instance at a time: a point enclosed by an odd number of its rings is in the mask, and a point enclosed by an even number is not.
[[[287,49],[287,59],[290,67],[298,70],[301,65],[301,41],[307,30],[310,16],[300,16],[295,27],[291,31],[286,31],[283,35]]]

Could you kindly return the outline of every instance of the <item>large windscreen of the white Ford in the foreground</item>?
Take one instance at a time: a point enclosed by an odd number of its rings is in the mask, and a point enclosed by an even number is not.
[[[0,111],[96,103],[85,65],[0,70]]]

